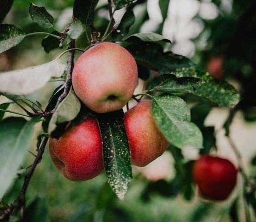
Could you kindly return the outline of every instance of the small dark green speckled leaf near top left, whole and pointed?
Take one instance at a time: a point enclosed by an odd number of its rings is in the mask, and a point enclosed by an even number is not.
[[[31,2],[29,14],[31,19],[44,29],[52,28],[54,25],[54,18],[47,12],[45,7],[38,7]]]

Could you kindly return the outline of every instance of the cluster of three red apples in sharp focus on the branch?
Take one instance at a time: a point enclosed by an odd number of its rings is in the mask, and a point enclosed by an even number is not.
[[[134,57],[111,42],[101,42],[84,52],[72,73],[74,92],[96,113],[123,108],[131,99],[137,82]],[[147,165],[162,155],[169,145],[154,122],[151,105],[151,100],[142,100],[125,113],[133,165]],[[69,180],[92,179],[104,170],[102,139],[98,122],[90,115],[83,123],[66,129],[59,139],[50,138],[52,161]]]

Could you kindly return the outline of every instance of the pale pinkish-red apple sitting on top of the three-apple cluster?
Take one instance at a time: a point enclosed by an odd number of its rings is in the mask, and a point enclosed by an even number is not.
[[[102,42],[78,58],[72,83],[78,98],[94,112],[119,110],[136,88],[137,65],[131,53],[122,46]]]

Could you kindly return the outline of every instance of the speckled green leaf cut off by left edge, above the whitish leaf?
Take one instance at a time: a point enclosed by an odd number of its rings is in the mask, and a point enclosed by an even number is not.
[[[0,53],[18,45],[26,33],[14,25],[0,24]]]

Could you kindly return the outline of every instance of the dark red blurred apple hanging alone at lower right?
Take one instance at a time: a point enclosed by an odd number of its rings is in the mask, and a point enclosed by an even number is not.
[[[194,164],[193,178],[202,196],[223,201],[236,185],[237,170],[229,160],[202,155]]]

